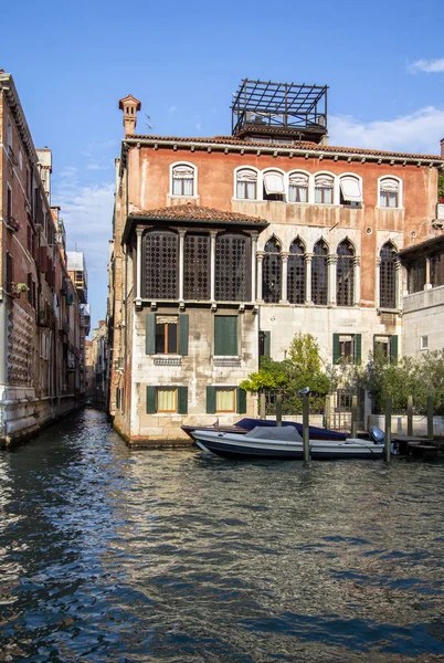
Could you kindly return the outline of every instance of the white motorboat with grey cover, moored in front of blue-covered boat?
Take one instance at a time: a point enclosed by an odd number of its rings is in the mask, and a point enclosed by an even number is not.
[[[216,430],[193,431],[197,445],[205,452],[230,459],[303,460],[303,438],[294,427],[261,427],[244,434]],[[381,441],[348,438],[346,440],[309,439],[313,460],[382,459]]]

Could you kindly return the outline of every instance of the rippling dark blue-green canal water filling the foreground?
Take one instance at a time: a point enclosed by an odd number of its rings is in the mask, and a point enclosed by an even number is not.
[[[444,661],[444,465],[0,453],[0,661]]]

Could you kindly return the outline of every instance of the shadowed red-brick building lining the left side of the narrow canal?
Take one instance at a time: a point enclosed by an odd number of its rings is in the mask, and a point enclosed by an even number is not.
[[[12,76],[0,71],[0,444],[82,403],[78,296],[51,208],[52,156],[36,150]]]

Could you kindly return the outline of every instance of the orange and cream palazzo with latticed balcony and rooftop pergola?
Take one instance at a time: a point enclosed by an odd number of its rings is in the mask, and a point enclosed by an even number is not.
[[[120,101],[110,413],[129,441],[254,413],[239,385],[298,332],[326,364],[402,351],[399,251],[430,236],[444,161],[328,145],[326,97],[244,81],[212,138],[137,135]]]

